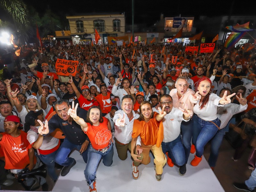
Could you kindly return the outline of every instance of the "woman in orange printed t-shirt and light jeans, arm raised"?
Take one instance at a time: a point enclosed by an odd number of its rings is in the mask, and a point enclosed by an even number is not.
[[[91,144],[88,151],[88,161],[84,170],[85,179],[90,186],[90,191],[96,191],[96,170],[101,158],[103,164],[110,166],[113,163],[113,140],[111,125],[107,118],[102,117],[101,110],[98,106],[93,106],[88,110],[86,122],[76,115],[74,101],[72,109],[68,109],[68,114],[81,125],[82,130],[89,137]]]

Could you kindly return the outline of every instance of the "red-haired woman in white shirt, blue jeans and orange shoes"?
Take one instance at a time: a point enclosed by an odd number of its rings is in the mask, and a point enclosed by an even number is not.
[[[217,107],[230,103],[230,97],[236,94],[233,93],[227,96],[227,91],[225,91],[223,97],[220,98],[211,92],[212,82],[207,77],[202,77],[198,80],[195,90],[197,92],[192,98],[196,103],[194,106],[195,116],[192,141],[196,146],[196,155],[190,163],[192,166],[197,166],[201,162],[204,146],[220,129]]]

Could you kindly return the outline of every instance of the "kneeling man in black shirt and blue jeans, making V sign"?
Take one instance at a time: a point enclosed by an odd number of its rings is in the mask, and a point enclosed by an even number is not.
[[[74,158],[68,157],[69,153],[73,149],[79,150],[84,162],[87,163],[87,147],[90,140],[81,129],[81,126],[77,124],[76,121],[73,121],[73,118],[68,114],[68,109],[71,108],[68,100],[56,101],[53,106],[56,109],[57,114],[53,115],[49,122],[45,121],[45,125],[39,127],[38,133],[45,135],[53,132],[56,128],[59,128],[66,136],[55,156],[55,162],[64,166],[61,171],[61,176],[65,176],[76,164],[76,160]],[[77,116],[83,118],[85,121],[87,111],[82,108],[77,108]],[[43,125],[40,120],[37,121]]]

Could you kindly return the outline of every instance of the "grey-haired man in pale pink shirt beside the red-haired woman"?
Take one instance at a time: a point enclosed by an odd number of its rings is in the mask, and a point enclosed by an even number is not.
[[[188,80],[186,77],[178,77],[175,82],[176,89],[172,89],[170,96],[173,100],[173,107],[175,108],[188,108],[193,112],[194,103],[192,103],[191,95],[194,95],[195,92],[192,89],[188,89]],[[192,101],[192,102],[191,102]],[[180,125],[181,134],[182,134],[182,143],[185,149],[185,164],[182,166],[182,174],[186,173],[186,164],[188,163],[188,157],[190,154],[191,148],[191,139],[193,132],[193,121],[182,122]],[[172,160],[168,157],[167,164],[172,167]]]

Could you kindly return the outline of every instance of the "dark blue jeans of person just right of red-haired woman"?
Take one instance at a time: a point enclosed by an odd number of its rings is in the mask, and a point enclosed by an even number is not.
[[[211,154],[208,159],[210,167],[215,167],[216,165],[216,162],[219,156],[220,145],[222,143],[224,134],[225,134],[225,129],[220,129],[217,131],[217,133],[214,135],[214,137],[211,140]]]

